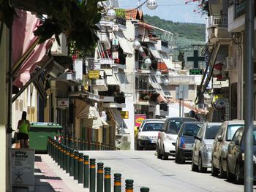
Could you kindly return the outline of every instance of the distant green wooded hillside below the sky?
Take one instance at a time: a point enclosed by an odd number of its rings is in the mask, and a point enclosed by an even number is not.
[[[164,20],[157,16],[143,15],[144,21],[152,26],[165,29],[173,33],[173,41],[171,45],[176,47],[173,49],[173,59],[177,59],[178,51],[184,50],[184,56],[191,56],[192,45],[206,44],[206,25],[200,23],[175,23],[171,20]],[[200,50],[203,47],[200,47]]]

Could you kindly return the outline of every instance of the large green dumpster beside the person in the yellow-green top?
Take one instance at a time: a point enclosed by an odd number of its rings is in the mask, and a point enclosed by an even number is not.
[[[58,123],[30,123],[29,148],[36,153],[47,153],[48,137],[61,137],[62,126]]]

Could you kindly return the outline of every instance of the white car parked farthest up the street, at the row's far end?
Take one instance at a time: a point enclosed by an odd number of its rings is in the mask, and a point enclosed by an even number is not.
[[[165,119],[143,120],[138,131],[137,149],[156,148],[158,132],[163,128]]]

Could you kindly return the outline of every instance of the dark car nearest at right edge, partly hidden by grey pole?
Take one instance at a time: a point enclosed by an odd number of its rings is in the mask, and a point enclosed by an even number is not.
[[[244,127],[238,128],[232,141],[227,147],[227,180],[236,180],[242,183],[244,180]],[[256,126],[253,128],[253,153],[256,154]],[[254,180],[256,179],[256,157],[254,155]]]

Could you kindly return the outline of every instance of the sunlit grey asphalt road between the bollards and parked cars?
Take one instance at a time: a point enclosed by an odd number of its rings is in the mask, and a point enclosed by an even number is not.
[[[150,192],[173,191],[244,191],[244,185],[229,183],[225,179],[207,173],[191,171],[190,161],[187,164],[176,164],[173,158],[159,160],[155,151],[83,151],[96,162],[103,162],[111,167],[111,175],[121,173],[122,191],[124,180],[134,180],[134,191],[140,187],[150,188]],[[256,186],[254,187],[256,191]]]

